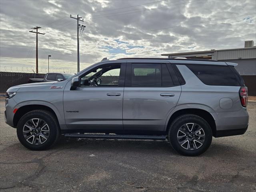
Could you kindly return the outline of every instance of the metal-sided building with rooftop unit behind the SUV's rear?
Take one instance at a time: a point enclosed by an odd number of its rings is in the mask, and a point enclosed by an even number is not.
[[[168,58],[182,57],[238,63],[236,70],[240,73],[240,75],[256,75],[256,46],[253,46],[253,41],[245,41],[245,48],[224,50],[212,49],[209,51],[170,53],[161,55],[168,56]]]

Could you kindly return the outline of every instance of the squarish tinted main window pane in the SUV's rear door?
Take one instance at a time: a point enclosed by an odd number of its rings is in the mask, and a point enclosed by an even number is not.
[[[161,64],[132,64],[132,86],[161,86]]]

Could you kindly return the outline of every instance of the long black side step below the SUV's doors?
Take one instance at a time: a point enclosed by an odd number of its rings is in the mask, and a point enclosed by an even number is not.
[[[76,134],[66,133],[65,137],[73,138],[98,138],[98,139],[144,139],[144,140],[165,140],[165,135],[115,135],[115,134]]]

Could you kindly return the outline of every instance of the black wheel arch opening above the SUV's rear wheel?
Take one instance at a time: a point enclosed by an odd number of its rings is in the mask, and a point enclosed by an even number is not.
[[[210,125],[210,127],[212,129],[212,136],[214,136],[214,137],[216,136],[216,124],[215,124],[215,120],[214,120],[213,116],[208,111],[203,110],[203,109],[198,109],[198,108],[186,108],[186,109],[180,109],[180,110],[177,110],[176,112],[174,112],[168,120],[168,124],[166,126],[166,133],[168,133],[168,130],[170,129],[170,124],[178,116],[181,116],[184,114],[194,114],[194,115],[202,117]]]

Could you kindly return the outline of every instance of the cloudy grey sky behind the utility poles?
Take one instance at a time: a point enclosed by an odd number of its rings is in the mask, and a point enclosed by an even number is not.
[[[0,70],[76,72],[76,20],[84,18],[80,69],[102,58],[242,48],[256,44],[256,0],[0,0]],[[209,22],[211,21],[211,22]]]

